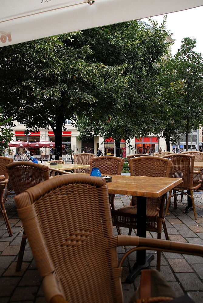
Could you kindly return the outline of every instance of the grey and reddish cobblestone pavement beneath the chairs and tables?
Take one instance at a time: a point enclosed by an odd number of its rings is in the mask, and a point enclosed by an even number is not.
[[[179,196],[180,197],[180,196]],[[180,198],[178,199],[180,201]],[[130,196],[116,195],[117,208],[129,205]],[[198,219],[194,220],[194,214],[183,213],[187,204],[186,198],[178,202],[178,209],[174,209],[171,203],[170,215],[167,216],[166,224],[168,234],[173,241],[198,243],[203,245],[203,200],[202,195],[195,195],[195,204]],[[38,274],[29,244],[26,244],[22,270],[15,272],[15,265],[21,242],[23,227],[19,220],[14,198],[7,198],[5,208],[12,227],[13,236],[8,237],[3,218],[0,217],[0,303],[41,303],[43,297],[41,278]],[[128,230],[121,228],[122,234],[127,235]],[[115,235],[117,234],[114,229]],[[134,232],[135,235],[135,232]],[[147,232],[148,238],[156,238],[156,233]],[[164,238],[164,233],[163,233]],[[119,259],[127,251],[127,247],[118,248]],[[151,261],[151,267],[156,265],[155,258]],[[124,262],[122,282],[125,281],[129,270],[135,262],[136,255],[132,253]],[[203,258],[192,255],[178,255],[174,253],[162,253],[161,273],[176,291],[177,295],[189,292],[196,303],[203,302]],[[140,277],[132,284],[123,283],[124,302],[129,302],[136,286],[139,285]]]

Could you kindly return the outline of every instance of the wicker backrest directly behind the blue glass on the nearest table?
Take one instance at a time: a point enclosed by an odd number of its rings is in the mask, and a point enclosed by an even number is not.
[[[124,158],[114,156],[100,156],[90,159],[90,172],[93,167],[98,167],[104,175],[121,175]]]

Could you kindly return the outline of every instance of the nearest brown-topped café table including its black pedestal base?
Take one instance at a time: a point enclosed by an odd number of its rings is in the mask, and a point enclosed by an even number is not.
[[[112,175],[112,182],[107,183],[107,187],[109,194],[137,196],[137,236],[145,238],[147,197],[159,198],[181,182],[181,178]],[[146,257],[145,250],[137,251],[137,261],[126,282],[132,283],[142,269],[149,268],[152,259],[154,255]]]

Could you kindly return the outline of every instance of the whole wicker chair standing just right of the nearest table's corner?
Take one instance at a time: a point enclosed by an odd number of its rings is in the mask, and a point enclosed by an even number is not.
[[[164,158],[169,158],[173,160],[171,166],[171,174],[170,174],[171,177],[183,179],[183,182],[178,185],[178,188],[176,187],[174,188],[175,193],[173,195],[171,195],[172,190],[169,192],[165,216],[167,216],[168,214],[168,208],[171,202],[171,197],[183,194],[191,198],[194,216],[195,219],[197,219],[193,191],[201,188],[202,182],[193,180],[195,156],[181,153],[181,154],[167,155],[164,156]],[[187,193],[184,190],[187,190]],[[175,200],[174,200],[174,207],[177,208],[177,203]]]

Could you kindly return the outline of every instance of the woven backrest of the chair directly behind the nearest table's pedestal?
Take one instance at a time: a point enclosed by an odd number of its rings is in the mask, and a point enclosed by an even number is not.
[[[129,159],[131,176],[148,176],[148,177],[169,177],[172,161],[156,156],[143,156]],[[137,197],[132,196],[132,204],[137,204]],[[161,208],[161,198],[147,198],[147,209],[149,214],[153,214],[154,209]],[[162,210],[163,211],[163,210]],[[161,214],[162,217],[162,214]],[[151,229],[157,228],[157,220],[147,218],[147,226]]]

